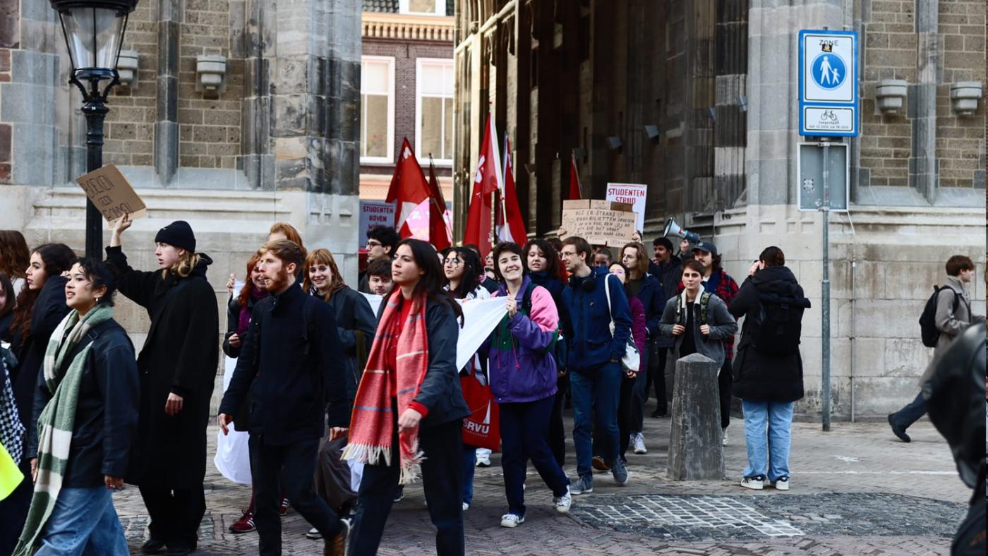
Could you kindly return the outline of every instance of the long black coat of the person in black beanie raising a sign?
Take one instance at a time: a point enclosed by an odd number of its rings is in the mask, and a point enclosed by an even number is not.
[[[219,360],[219,311],[206,281],[206,255],[187,278],[127,265],[120,247],[107,248],[107,266],[121,293],[151,318],[137,356],[140,419],[136,460],[127,482],[150,487],[199,488],[206,476],[206,425]],[[181,287],[169,296],[173,287]],[[178,415],[165,414],[168,394],[183,397]]]

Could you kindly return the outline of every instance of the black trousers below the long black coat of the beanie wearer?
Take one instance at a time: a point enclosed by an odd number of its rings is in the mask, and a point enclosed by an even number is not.
[[[203,485],[190,489],[141,486],[140,497],[151,516],[147,528],[151,538],[169,546],[196,548],[199,542],[199,525],[206,514],[206,495]]]

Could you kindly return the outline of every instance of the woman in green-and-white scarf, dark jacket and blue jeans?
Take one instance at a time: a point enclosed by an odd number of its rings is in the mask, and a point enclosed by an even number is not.
[[[129,554],[112,493],[124,489],[140,388],[133,346],[113,318],[114,289],[94,259],[69,271],[71,311],[51,334],[35,391],[35,494],[17,556]]]

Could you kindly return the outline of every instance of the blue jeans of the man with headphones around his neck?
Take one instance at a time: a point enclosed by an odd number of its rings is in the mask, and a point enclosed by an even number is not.
[[[569,373],[573,393],[573,444],[576,472],[590,477],[591,418],[596,410],[597,448],[605,461],[617,457],[617,402],[620,399],[620,362],[607,362],[595,369]],[[626,440],[627,438],[625,438]]]

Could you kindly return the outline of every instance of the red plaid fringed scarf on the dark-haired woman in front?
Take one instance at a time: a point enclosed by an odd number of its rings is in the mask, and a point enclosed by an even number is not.
[[[408,320],[404,323],[399,322],[399,305],[402,302],[413,303]],[[425,298],[403,301],[400,289],[395,289],[388,297],[354,400],[344,459],[372,465],[379,464],[383,458],[384,465],[391,465],[391,437],[395,427],[391,398],[397,397],[400,416],[419,393],[429,366],[425,320]],[[388,368],[387,363],[387,351],[392,342],[397,342],[396,368],[393,370]],[[397,392],[391,391],[392,372],[395,373]],[[418,478],[418,464],[422,461],[418,428],[400,433],[398,444],[401,456],[399,483],[405,485]]]

